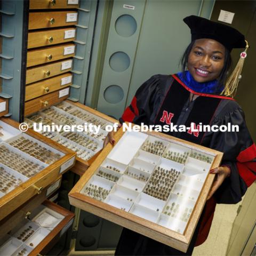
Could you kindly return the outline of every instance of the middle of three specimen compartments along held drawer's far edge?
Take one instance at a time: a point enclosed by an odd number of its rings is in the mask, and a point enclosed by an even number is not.
[[[190,153],[190,148],[170,142],[169,146],[164,151],[163,157],[185,164]]]

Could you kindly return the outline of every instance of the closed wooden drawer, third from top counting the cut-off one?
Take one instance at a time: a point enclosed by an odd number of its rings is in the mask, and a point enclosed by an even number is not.
[[[75,38],[76,28],[73,27],[30,31],[28,33],[28,49],[66,43],[75,40]]]

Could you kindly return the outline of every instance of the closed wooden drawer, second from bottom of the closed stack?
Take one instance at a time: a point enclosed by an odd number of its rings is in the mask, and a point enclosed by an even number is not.
[[[25,101],[63,89],[72,84],[72,78],[72,73],[68,72],[60,76],[54,76],[37,83],[29,84],[26,86]]]

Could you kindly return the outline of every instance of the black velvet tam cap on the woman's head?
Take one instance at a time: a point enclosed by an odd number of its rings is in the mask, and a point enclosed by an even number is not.
[[[195,15],[188,16],[183,21],[191,30],[192,41],[211,38],[226,46],[229,51],[246,46],[244,35],[230,26]]]

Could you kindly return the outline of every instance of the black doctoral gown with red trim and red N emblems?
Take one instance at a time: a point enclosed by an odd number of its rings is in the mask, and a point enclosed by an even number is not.
[[[199,95],[189,102],[189,94]],[[222,165],[230,167],[214,196],[206,202],[187,254],[194,245],[202,244],[209,234],[216,203],[235,204],[241,201],[247,187],[256,179],[256,146],[244,120],[244,113],[234,99],[214,94],[197,93],[183,84],[176,75],[155,75],[143,83],[120,122],[135,124],[238,125],[237,132],[169,132],[177,138],[195,142],[224,153]],[[150,238],[124,229],[116,255],[182,255],[182,252]],[[183,254],[183,255],[186,255]]]

